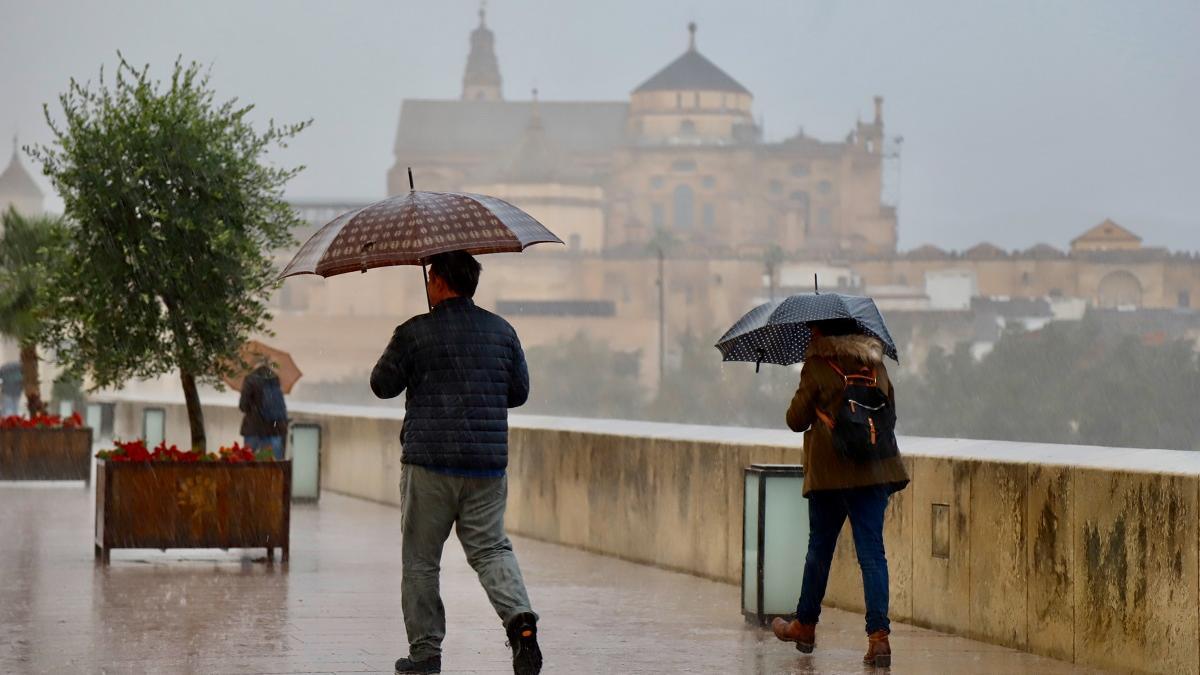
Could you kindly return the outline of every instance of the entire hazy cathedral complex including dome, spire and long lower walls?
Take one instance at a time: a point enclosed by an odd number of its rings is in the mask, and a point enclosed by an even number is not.
[[[896,153],[881,97],[841,141],[768,142],[754,94],[703,54],[694,24],[684,38],[673,60],[630,83],[628,100],[533,91],[514,101],[481,12],[460,97],[403,101],[389,195],[409,190],[412,167],[418,190],[500,197],[566,244],[481,258],[476,303],[509,318],[528,347],[583,333],[634,356],[653,390],[684,335],[715,341],[755,304],[811,291],[814,276],[876,298],[900,329],[902,364],[917,369],[934,344],[972,340],[990,321],[979,319],[980,301],[1046,316],[1194,316],[1200,259],[1146,246],[1112,221],[1064,249],[898,251],[896,211],[883,196]],[[361,205],[298,208],[317,227]],[[278,344],[310,364],[313,381],[364,377],[397,319],[425,311],[420,275],[406,269],[292,279],[276,301]],[[347,358],[323,358],[331,344]]]

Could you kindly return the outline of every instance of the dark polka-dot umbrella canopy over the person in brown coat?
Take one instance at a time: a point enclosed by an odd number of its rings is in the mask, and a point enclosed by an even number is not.
[[[809,323],[838,318],[853,319],[859,331],[883,342],[883,353],[900,360],[875,300],[841,293],[803,293],[758,305],[721,336],[716,348],[727,362],[792,365],[804,360],[812,341]]]

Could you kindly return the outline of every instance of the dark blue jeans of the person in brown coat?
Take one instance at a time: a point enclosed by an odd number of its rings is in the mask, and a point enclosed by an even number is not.
[[[829,584],[829,565],[841,526],[850,518],[858,566],[863,569],[866,633],[890,631],[888,621],[888,558],[883,555],[883,512],[892,489],[887,485],[829,490],[809,495],[809,555],[796,619],[816,623]]]

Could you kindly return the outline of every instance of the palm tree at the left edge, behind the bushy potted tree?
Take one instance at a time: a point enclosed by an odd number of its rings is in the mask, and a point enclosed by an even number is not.
[[[0,334],[8,335],[20,347],[20,375],[25,383],[25,401],[30,414],[46,412],[42,400],[36,312],[37,291],[49,251],[60,240],[62,220],[25,217],[10,208],[0,216]]]

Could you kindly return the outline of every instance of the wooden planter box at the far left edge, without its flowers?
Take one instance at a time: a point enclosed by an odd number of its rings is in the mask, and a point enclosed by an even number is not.
[[[0,429],[0,480],[89,480],[91,429]]]

